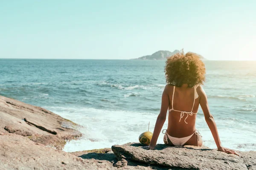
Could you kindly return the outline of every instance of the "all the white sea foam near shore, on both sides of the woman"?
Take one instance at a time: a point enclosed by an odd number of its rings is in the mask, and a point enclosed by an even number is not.
[[[149,121],[149,130],[153,132],[157,119],[157,114],[150,112],[111,111],[95,108],[44,108],[83,126],[79,129],[83,133],[83,137],[79,140],[67,142],[64,147],[67,152],[100,149],[111,147],[113,144],[138,142],[140,133],[147,131]],[[253,146],[241,147],[241,145],[256,143],[256,131],[252,130],[252,127],[256,127],[255,124],[241,122],[238,119],[216,119],[215,121],[221,142],[225,147],[237,150],[253,148]],[[166,127],[167,121],[162,130]],[[196,127],[203,136],[204,145],[216,148],[212,134],[201,113],[198,114]],[[229,128],[227,129],[227,127]],[[251,136],[250,139],[247,136]],[[157,143],[163,143],[162,133],[160,133]]]

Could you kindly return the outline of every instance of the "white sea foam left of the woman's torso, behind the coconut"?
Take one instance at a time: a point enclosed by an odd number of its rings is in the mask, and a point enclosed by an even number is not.
[[[79,129],[84,134],[83,138],[67,142],[65,145],[64,150],[68,152],[111,147],[113,144],[138,142],[140,133],[148,130],[149,121],[151,122],[150,131],[153,131],[157,118],[157,115],[152,113],[130,111],[111,111],[94,108],[44,108],[84,126]],[[166,127],[167,123],[163,128]],[[160,136],[162,137],[159,138],[158,142],[163,143],[163,134]]]

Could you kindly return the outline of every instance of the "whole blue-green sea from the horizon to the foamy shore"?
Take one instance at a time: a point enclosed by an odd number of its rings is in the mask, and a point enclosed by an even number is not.
[[[256,150],[256,62],[204,62],[203,87],[223,146]],[[164,65],[162,60],[0,59],[0,95],[82,125],[83,137],[68,142],[65,151],[111,147],[138,142],[149,121],[153,132],[166,85]],[[204,145],[216,148],[201,109],[196,128]]]

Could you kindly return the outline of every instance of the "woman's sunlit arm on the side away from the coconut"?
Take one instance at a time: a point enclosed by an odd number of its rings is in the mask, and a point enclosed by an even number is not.
[[[207,125],[208,125],[209,129],[212,132],[212,136],[213,136],[214,141],[215,141],[215,143],[218,147],[218,150],[222,151],[222,152],[226,152],[226,153],[233,153],[233,154],[236,154],[236,155],[239,156],[239,154],[236,153],[235,150],[231,150],[231,149],[228,149],[228,148],[225,148],[225,147],[221,146],[221,140],[220,140],[219,135],[218,135],[217,126],[216,126],[215,121],[213,119],[213,116],[212,116],[212,114],[210,113],[210,110],[209,110],[207,95],[206,95],[204,89],[201,86],[198,87],[198,95],[200,96],[200,105],[201,105],[201,108],[204,112],[205,121],[207,122]]]

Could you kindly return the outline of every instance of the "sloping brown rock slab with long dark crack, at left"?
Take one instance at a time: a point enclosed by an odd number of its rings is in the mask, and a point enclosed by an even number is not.
[[[61,150],[67,140],[81,133],[78,125],[44,108],[0,96],[0,132],[26,136],[34,142]]]

